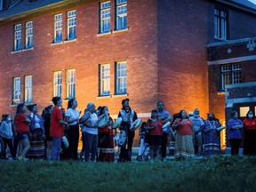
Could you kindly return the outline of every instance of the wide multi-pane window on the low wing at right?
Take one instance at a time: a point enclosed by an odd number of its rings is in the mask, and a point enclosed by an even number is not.
[[[221,66],[221,89],[224,91],[227,84],[241,84],[241,63]]]

